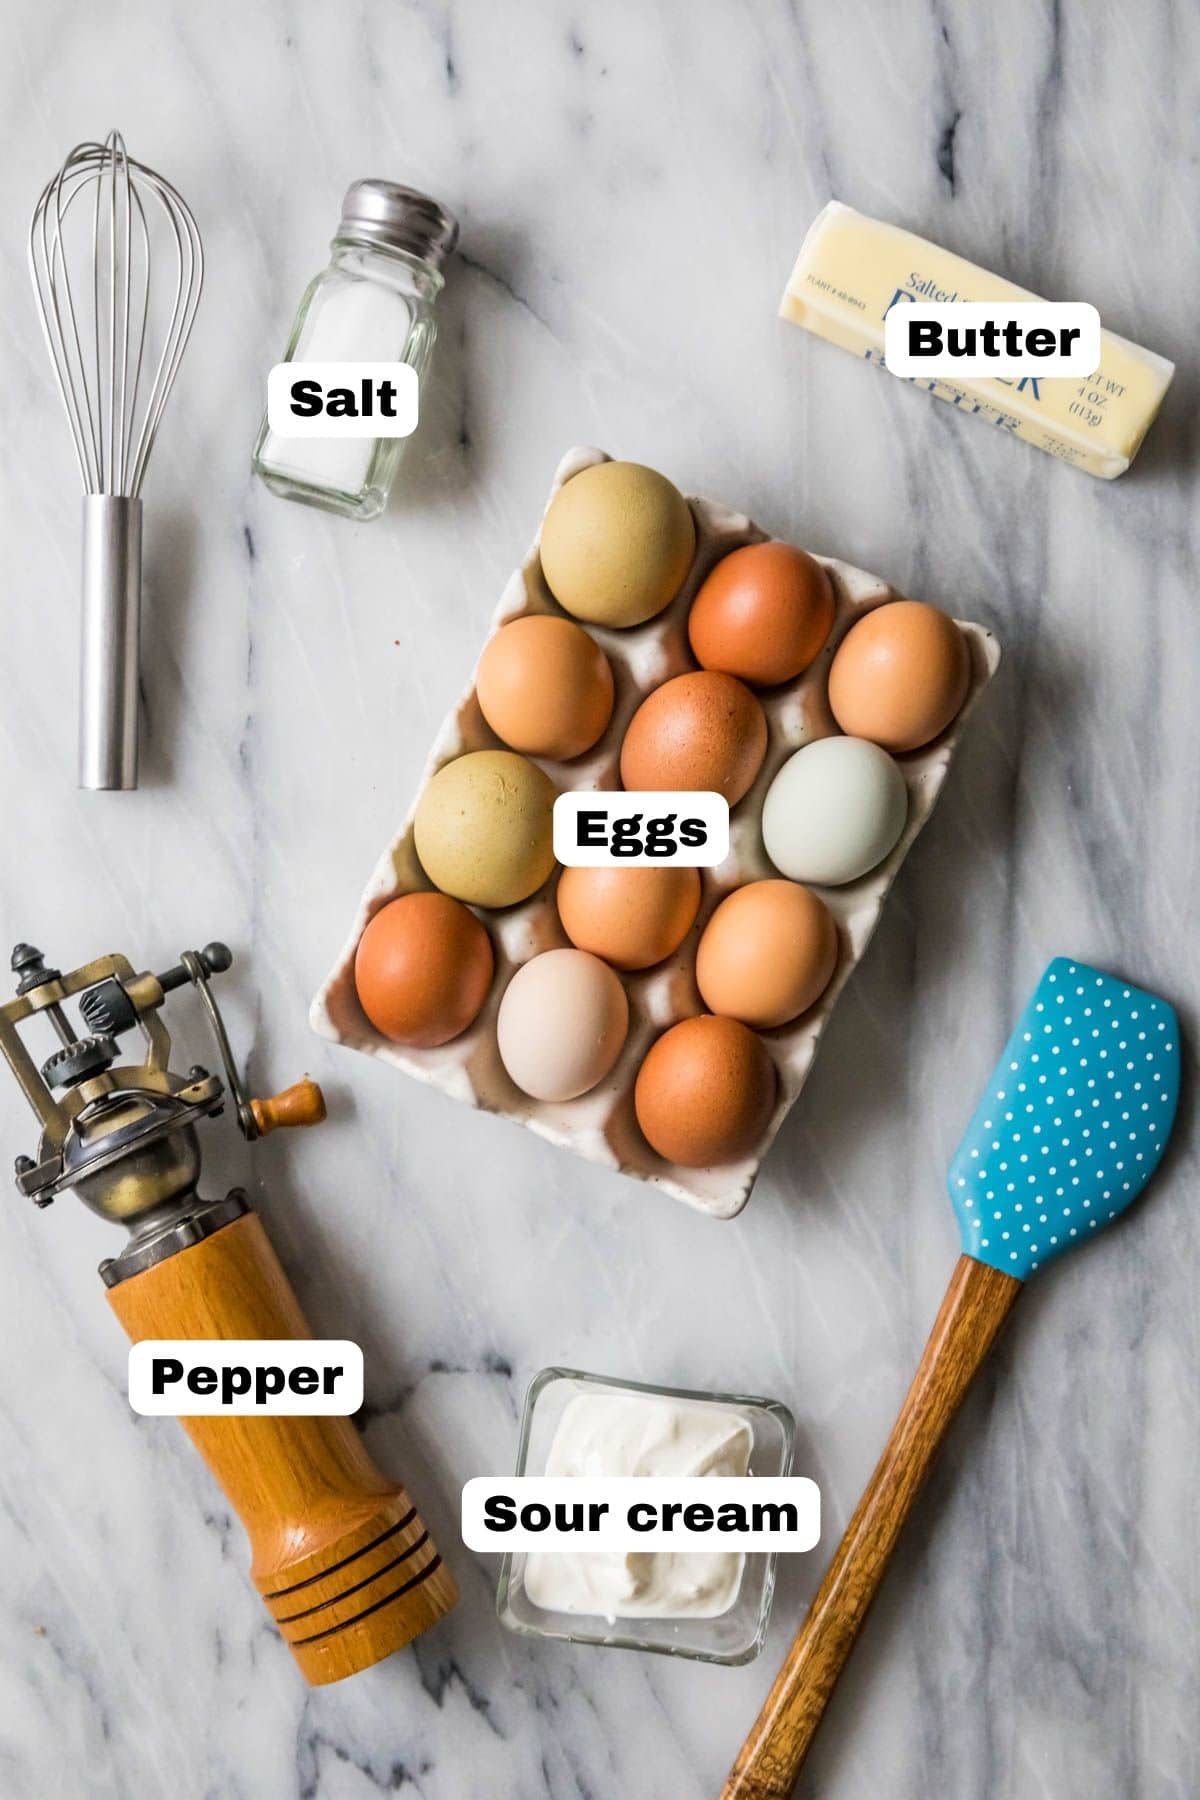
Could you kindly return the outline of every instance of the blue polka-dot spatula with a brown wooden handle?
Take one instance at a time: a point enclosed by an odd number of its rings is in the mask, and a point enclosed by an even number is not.
[[[1166,1001],[1056,958],[950,1165],[963,1256],[880,1463],[721,1800],[786,1800],[950,1420],[1022,1285],[1142,1192],[1178,1102]]]

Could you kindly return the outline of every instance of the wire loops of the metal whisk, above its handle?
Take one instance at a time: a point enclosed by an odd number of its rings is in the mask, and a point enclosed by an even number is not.
[[[81,324],[68,214],[88,189],[94,189],[92,281],[85,286],[92,317]],[[148,202],[166,220],[175,292],[144,387],[153,279]],[[34,209],[29,272],[85,491],[135,497],[200,304],[203,245],[191,207],[155,169],[128,155],[119,131],[110,131],[103,144],[77,144]],[[85,353],[88,326],[90,355]]]

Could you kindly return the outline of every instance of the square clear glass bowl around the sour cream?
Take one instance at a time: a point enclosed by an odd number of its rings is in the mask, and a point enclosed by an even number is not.
[[[545,1462],[569,1402],[578,1393],[637,1393],[660,1400],[689,1400],[739,1413],[752,1429],[748,1474],[792,1472],[795,1420],[779,1400],[745,1393],[698,1393],[689,1388],[653,1388],[640,1381],[588,1375],[578,1368],[543,1368],[529,1382],[516,1451],[516,1474],[545,1474]],[[655,1651],[660,1656],[691,1656],[700,1663],[748,1663],[766,1640],[766,1622],[775,1593],[775,1553],[748,1552],[738,1598],[720,1618],[617,1618],[587,1613],[554,1613],[534,1606],[525,1593],[525,1552],[509,1552],[500,1568],[497,1613],[500,1624],[525,1638],[561,1638],[567,1643],[601,1643],[617,1651]]]

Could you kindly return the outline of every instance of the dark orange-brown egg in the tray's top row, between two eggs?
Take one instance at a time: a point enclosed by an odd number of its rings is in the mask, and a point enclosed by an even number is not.
[[[757,688],[793,680],[833,626],[826,569],[792,544],[747,544],[705,578],[687,617],[696,662]]]

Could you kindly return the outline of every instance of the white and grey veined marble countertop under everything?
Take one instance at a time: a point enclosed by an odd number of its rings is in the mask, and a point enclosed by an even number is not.
[[[113,1235],[14,1192],[0,1235],[0,1791],[180,1800],[716,1795],[919,1357],[945,1168],[1043,963],[1195,1017],[1200,607],[1195,9],[4,0],[7,437],[0,922],[59,965],[227,938],[259,1087],[317,1134],[246,1181],[318,1332],[367,1352],[367,1440],[462,1604],[309,1692],[184,1435],[135,1420]],[[38,187],[119,124],[193,202],[196,335],[148,482],[146,778],[74,788],[77,502],[23,266]],[[263,378],[345,184],[462,220],[419,439],[358,527],[248,475]],[[1090,481],[775,319],[837,194],[1178,364]],[[565,446],[599,443],[995,626],[1002,675],[757,1192],[714,1224],[315,1039],[308,1001],[462,686]],[[207,1055],[189,997],[185,1060]],[[0,1091],[0,1147],[31,1120]],[[1189,1093],[1137,1213],[1047,1273],[970,1397],[801,1793],[1200,1789],[1200,1330]],[[745,1669],[529,1645],[457,1494],[511,1465],[547,1363],[777,1397],[826,1539]],[[882,1771],[887,1771],[885,1777]]]

